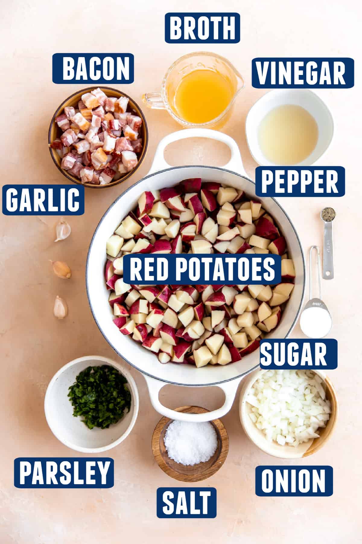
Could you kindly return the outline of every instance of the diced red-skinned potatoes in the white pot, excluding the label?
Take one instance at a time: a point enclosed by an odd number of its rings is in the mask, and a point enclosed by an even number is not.
[[[188,194],[182,193],[181,183],[160,193],[143,193],[138,200],[137,217],[130,213],[113,235],[123,238],[123,245],[121,255],[118,256],[119,251],[115,255],[113,270],[108,264],[106,279],[115,288],[114,296],[120,297],[117,302],[110,297],[115,316],[124,320],[128,317],[124,312],[130,314],[131,319],[122,323],[124,334],[130,334],[132,325],[128,323],[134,322],[136,327],[142,327],[142,334],[141,329],[134,329],[132,338],[155,353],[160,352],[162,361],[186,362],[196,367],[237,362],[257,349],[264,333],[280,321],[280,305],[288,300],[294,287],[289,280],[295,277],[293,262],[283,246],[285,240],[260,202],[244,201],[243,191],[233,188],[205,189],[206,193],[204,187],[200,190],[198,184],[190,182]],[[210,194],[215,202],[217,196],[221,208],[216,204],[215,209],[208,210],[205,202],[209,202],[206,197]],[[200,225],[198,215],[202,215]],[[114,253],[116,249],[111,251]],[[273,290],[264,285],[128,286],[120,277],[123,273],[120,259],[129,252],[255,253],[272,249],[280,251],[285,262],[283,280]]]

